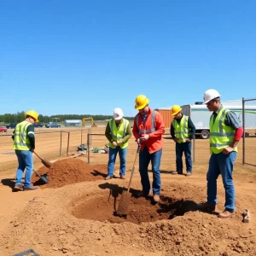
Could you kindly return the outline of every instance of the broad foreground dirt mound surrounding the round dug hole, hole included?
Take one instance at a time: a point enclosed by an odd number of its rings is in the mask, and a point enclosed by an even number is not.
[[[76,183],[73,189],[65,186],[31,192],[38,196],[10,218],[0,235],[0,255],[14,255],[30,247],[42,256],[256,255],[254,221],[243,224],[240,214],[220,219],[216,214],[195,211],[195,202],[201,200],[205,189],[203,184],[195,185],[185,177],[180,183],[172,182],[156,205],[132,197],[125,219],[114,216],[122,192],[119,183],[123,182],[111,182]],[[138,183],[133,183],[134,190]],[[223,205],[224,193],[220,195]],[[241,212],[241,206],[237,207],[237,213]]]

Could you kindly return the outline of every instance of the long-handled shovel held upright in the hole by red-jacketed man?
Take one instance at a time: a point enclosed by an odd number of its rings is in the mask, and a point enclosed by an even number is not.
[[[131,188],[131,180],[133,177],[133,173],[134,173],[134,169],[135,169],[135,163],[137,160],[137,154],[140,151],[140,146],[137,147],[137,153],[135,155],[135,160],[131,169],[131,177],[130,177],[130,181],[128,184],[128,189],[127,191],[123,190],[122,195],[121,195],[121,199],[119,201],[119,208],[117,210],[117,215],[119,216],[123,216],[123,215],[127,215],[128,211],[129,211],[129,206],[130,206],[130,201],[131,201],[131,193],[130,193],[130,188]]]

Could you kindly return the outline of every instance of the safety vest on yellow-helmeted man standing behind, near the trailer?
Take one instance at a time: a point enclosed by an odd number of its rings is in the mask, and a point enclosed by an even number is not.
[[[185,143],[186,139],[190,136],[189,117],[183,115],[179,124],[177,123],[177,119],[173,119],[172,125],[175,130],[175,137],[177,137],[177,143]]]

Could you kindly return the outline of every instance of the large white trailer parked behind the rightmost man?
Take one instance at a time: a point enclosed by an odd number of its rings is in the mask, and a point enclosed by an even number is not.
[[[242,100],[221,102],[225,108],[229,108],[236,113],[237,118],[242,124]],[[207,105],[203,102],[195,102],[195,104],[181,106],[182,113],[188,115],[195,125],[195,135],[201,138],[207,139],[210,136],[209,122],[212,112],[207,108]],[[245,106],[244,109],[244,125],[245,129],[256,129],[256,107]],[[245,132],[245,136],[249,136],[248,132]]]

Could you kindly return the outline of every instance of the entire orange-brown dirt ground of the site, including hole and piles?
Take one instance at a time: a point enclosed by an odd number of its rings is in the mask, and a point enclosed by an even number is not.
[[[196,207],[207,197],[209,141],[195,139],[193,142],[193,175],[174,176],[175,143],[168,129],[163,136],[160,202],[153,203],[151,194],[148,198],[137,197],[142,187],[136,162],[129,212],[119,216],[116,212],[121,195],[127,189],[137,143],[132,138],[129,142],[126,179],[119,178],[117,159],[116,176],[106,181],[108,154],[93,151],[93,148],[106,147],[104,131],[105,127],[99,125],[80,130],[40,128],[36,131],[36,151],[39,157],[49,160],[51,166],[44,166],[42,160],[34,156],[34,169],[41,177],[47,177],[49,183],[42,183],[34,173],[32,182],[39,189],[16,193],[12,192],[17,163],[9,136],[11,131],[0,137],[0,255],[256,254],[255,167],[242,164],[242,143],[234,170],[235,218],[217,217],[218,212],[224,210],[221,178],[218,178],[216,212],[210,214]],[[253,149],[255,137],[245,140],[247,148]],[[82,143],[89,146],[85,152],[78,151]],[[152,181],[150,168],[149,165]],[[245,211],[250,212],[247,222],[244,222]]]

